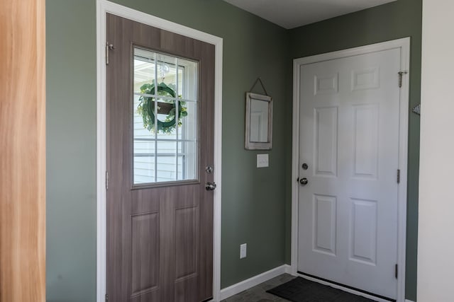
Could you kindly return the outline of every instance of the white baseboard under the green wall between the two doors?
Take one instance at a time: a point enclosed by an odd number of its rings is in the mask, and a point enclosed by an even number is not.
[[[250,289],[253,286],[256,286],[262,282],[268,281],[272,278],[279,276],[280,274],[285,273],[290,274],[289,265],[281,265],[280,267],[275,267],[274,269],[270,269],[267,272],[263,272],[262,274],[258,274],[257,276],[243,280],[241,282],[238,282],[237,284],[228,286],[225,289],[221,289],[220,300],[239,294],[241,291]]]

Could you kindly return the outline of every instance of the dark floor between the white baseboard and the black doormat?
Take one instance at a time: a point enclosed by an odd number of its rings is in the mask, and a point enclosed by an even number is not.
[[[240,294],[226,298],[221,302],[288,302],[288,300],[279,298],[278,296],[272,294],[268,294],[266,291],[287,281],[290,281],[293,278],[295,277],[290,274],[282,274],[280,276],[277,276],[276,278],[258,284],[258,286],[254,286],[246,291],[242,291],[240,292]]]

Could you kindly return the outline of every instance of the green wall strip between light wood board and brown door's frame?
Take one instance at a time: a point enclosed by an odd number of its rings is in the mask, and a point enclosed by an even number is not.
[[[95,5],[46,2],[47,300],[95,301]]]

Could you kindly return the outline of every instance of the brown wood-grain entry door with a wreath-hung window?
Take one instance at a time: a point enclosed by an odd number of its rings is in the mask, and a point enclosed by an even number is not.
[[[109,302],[204,301],[213,291],[214,45],[110,14],[107,39]]]

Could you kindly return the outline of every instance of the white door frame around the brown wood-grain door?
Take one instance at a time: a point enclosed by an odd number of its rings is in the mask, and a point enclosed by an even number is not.
[[[192,37],[215,45],[214,80],[214,243],[213,300],[221,291],[221,144],[222,144],[222,50],[223,40],[208,33],[188,28],[132,8],[106,0],[96,0],[96,301],[104,302],[106,294],[106,13]]]

